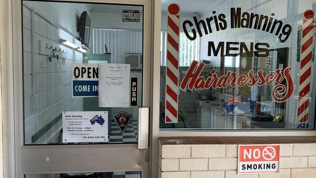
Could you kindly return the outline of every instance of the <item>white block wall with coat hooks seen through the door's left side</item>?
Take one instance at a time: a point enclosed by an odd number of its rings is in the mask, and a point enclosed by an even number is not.
[[[25,143],[55,142],[54,137],[62,127],[60,119],[53,127],[46,130],[36,142],[31,137],[56,117],[60,117],[63,110],[82,110],[83,99],[71,97],[71,64],[82,62],[83,54],[67,46],[61,45],[59,39],[81,46],[76,40],[79,36],[76,30],[77,19],[83,11],[89,11],[86,4],[23,1],[28,7],[34,8],[34,38],[31,39],[31,10],[23,6],[23,64],[24,64],[24,120]],[[31,43],[34,42],[34,58],[32,59]],[[47,62],[47,56],[52,54],[46,48],[53,46],[65,50],[62,65]],[[59,59],[60,60],[60,59]],[[32,61],[33,64],[32,69]],[[55,62],[57,62],[55,60]],[[56,67],[45,67],[56,66]],[[32,86],[32,70],[35,72]],[[33,87],[33,96],[32,96]]]

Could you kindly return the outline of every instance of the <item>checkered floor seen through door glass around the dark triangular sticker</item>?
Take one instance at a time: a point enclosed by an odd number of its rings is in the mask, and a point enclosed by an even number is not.
[[[111,133],[109,136],[109,142],[137,142],[138,123],[137,120],[132,120],[124,133],[121,133],[118,126],[112,119]]]

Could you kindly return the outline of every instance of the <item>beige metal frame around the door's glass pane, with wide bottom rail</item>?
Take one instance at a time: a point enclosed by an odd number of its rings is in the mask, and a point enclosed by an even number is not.
[[[37,0],[38,1],[38,0]],[[151,106],[151,0],[41,0],[55,2],[111,3],[143,6],[143,97],[142,107]],[[11,9],[9,10],[11,11]],[[138,149],[138,144],[76,144],[76,145],[24,145],[23,121],[23,63],[22,63],[22,0],[12,0],[12,20],[9,23],[12,38],[9,39],[8,58],[8,105],[12,122],[11,156],[12,177],[23,178],[24,174],[67,172],[114,172],[142,171],[148,178],[149,149]],[[147,59],[147,60],[145,60]],[[151,116],[149,118],[152,118]],[[152,123],[151,123],[152,124]],[[152,125],[149,125],[151,130]],[[157,127],[157,125],[156,125]],[[149,133],[150,134],[150,133]],[[151,134],[150,134],[151,135]],[[149,137],[149,142],[152,137]],[[93,150],[92,153],[88,151]],[[96,156],[101,155],[101,156]],[[147,158],[147,159],[146,159]],[[116,159],[114,161],[113,159]],[[110,161],[109,161],[110,160]],[[33,162],[31,162],[33,161]],[[91,164],[100,162],[99,165]],[[157,165],[156,165],[157,166]]]

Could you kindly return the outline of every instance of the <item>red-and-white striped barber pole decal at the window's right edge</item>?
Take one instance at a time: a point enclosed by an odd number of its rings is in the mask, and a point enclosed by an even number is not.
[[[314,47],[314,12],[304,13],[300,52],[300,70],[298,86],[298,126],[306,127],[309,117],[309,97],[311,89],[312,56]],[[308,126],[307,126],[308,127]]]

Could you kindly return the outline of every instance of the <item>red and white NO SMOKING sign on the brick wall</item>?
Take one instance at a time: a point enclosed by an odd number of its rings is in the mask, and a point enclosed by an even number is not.
[[[278,173],[280,145],[239,145],[238,174]]]

